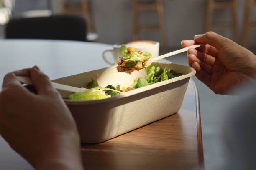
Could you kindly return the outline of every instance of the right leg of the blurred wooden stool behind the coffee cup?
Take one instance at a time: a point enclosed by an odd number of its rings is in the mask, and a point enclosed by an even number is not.
[[[159,28],[162,42],[162,50],[167,51],[167,40],[166,40],[166,29],[164,23],[164,7],[162,0],[157,0],[157,12],[158,12],[158,20],[159,20]]]

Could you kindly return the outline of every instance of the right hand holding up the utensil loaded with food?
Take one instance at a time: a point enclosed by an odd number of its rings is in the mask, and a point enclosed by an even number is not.
[[[243,80],[256,76],[256,56],[246,48],[214,32],[182,41],[183,47],[206,44],[188,50],[188,62],[196,77],[216,94],[225,94]]]

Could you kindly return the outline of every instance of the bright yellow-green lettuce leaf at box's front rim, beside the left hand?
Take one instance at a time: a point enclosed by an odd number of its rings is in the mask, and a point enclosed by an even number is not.
[[[69,95],[70,100],[98,100],[105,99],[111,96],[105,95],[105,92],[99,90],[86,90],[84,92],[76,92],[72,95]]]

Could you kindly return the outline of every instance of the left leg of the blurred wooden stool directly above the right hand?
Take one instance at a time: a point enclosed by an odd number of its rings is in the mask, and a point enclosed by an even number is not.
[[[206,2],[206,14],[205,14],[205,32],[208,32],[212,28],[212,14],[214,9],[213,0],[207,0]]]

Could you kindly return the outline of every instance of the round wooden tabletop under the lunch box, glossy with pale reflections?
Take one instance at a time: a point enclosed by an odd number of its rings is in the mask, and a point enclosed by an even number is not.
[[[102,52],[111,48],[89,42],[0,40],[0,82],[7,72],[33,65],[51,79],[108,67]],[[189,81],[179,112],[104,143],[82,144],[82,159],[85,169],[203,167],[200,107],[193,80]],[[0,169],[33,168],[0,137]]]

